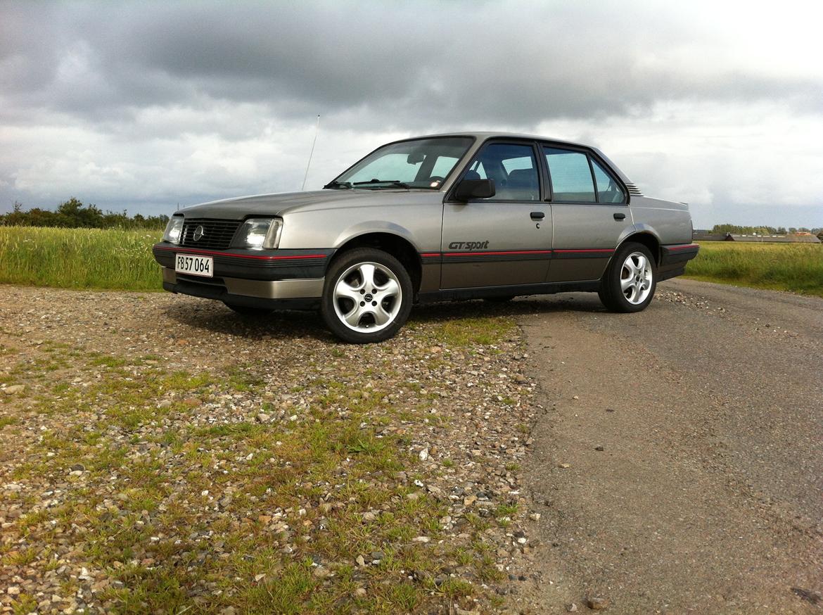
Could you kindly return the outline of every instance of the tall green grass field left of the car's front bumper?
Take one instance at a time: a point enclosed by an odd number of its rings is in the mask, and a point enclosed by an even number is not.
[[[0,283],[161,290],[151,245],[160,231],[0,226]]]

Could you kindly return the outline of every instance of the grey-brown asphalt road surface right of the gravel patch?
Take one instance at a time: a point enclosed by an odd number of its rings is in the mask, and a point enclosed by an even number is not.
[[[525,301],[544,410],[523,608],[823,612],[823,300],[673,280],[641,314]]]

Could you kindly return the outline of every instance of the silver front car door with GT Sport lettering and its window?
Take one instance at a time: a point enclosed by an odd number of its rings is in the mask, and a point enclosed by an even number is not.
[[[490,142],[463,172],[494,179],[494,197],[443,206],[443,289],[534,284],[551,258],[551,208],[533,142]]]

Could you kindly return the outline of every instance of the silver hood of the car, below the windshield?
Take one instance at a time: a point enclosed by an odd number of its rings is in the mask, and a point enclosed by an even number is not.
[[[443,194],[429,190],[314,190],[226,198],[185,207],[185,217],[240,220],[249,216],[282,216],[286,212],[319,211],[338,207],[379,207],[387,203],[440,201]]]

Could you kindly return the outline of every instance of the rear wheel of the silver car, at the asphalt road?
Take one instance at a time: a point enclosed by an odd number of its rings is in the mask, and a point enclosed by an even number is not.
[[[649,248],[629,242],[621,245],[600,281],[597,295],[613,312],[639,312],[651,303],[658,272]]]

